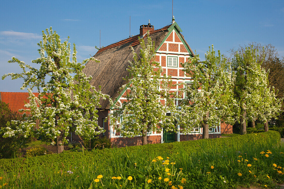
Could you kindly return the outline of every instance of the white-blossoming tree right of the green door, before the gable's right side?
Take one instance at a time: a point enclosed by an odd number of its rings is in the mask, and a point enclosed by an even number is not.
[[[187,98],[181,100],[179,125],[183,132],[202,125],[202,138],[209,138],[209,127],[216,127],[220,121],[231,123],[228,101],[231,100],[231,73],[226,72],[226,59],[214,47],[209,47],[205,60],[199,54],[184,63],[184,71],[193,82],[185,87]],[[233,102],[232,102],[233,103]]]

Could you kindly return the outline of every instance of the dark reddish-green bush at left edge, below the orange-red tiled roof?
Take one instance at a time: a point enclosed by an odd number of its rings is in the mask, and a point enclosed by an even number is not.
[[[18,112],[10,110],[9,105],[0,101],[0,129],[6,127],[6,123],[11,120],[22,120],[24,117],[20,116]],[[15,129],[15,128],[14,128]],[[3,133],[0,134],[0,158],[11,158],[16,154],[19,148],[24,148],[31,138],[25,138],[22,135],[11,138],[3,138]]]

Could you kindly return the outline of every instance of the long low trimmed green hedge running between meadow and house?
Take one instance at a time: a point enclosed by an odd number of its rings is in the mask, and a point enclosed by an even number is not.
[[[62,152],[61,154],[48,154],[44,156],[36,156],[30,158],[15,158],[15,159],[0,159],[0,169],[6,172],[11,172],[20,167],[28,167],[30,171],[34,169],[45,169],[47,166],[57,167],[62,169],[64,166],[76,166],[84,162],[99,161],[103,164],[108,164],[111,161],[113,154],[114,158],[120,158],[126,154],[126,150],[139,152],[143,151],[149,157],[163,156],[164,154],[175,154],[180,150],[187,153],[195,153],[201,150],[223,150],[224,148],[240,149],[247,143],[260,144],[270,142],[277,144],[280,141],[279,132],[268,131],[263,133],[253,133],[247,135],[239,135],[237,137],[215,138],[191,140],[182,142],[172,142],[163,144],[147,144],[144,146],[130,146],[126,148],[112,148],[103,150],[93,150],[90,152]],[[222,147],[222,148],[219,148]]]

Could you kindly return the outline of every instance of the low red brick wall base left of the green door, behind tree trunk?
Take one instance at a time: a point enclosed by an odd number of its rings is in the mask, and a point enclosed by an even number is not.
[[[132,138],[110,138],[112,146],[125,147],[125,146],[139,146],[142,145],[142,137]],[[148,144],[161,143],[161,135],[147,136]]]

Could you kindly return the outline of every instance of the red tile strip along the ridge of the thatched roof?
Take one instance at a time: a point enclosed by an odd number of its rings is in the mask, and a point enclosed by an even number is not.
[[[151,34],[157,33],[158,31],[166,30],[166,29],[168,29],[170,26],[171,26],[171,25],[165,26],[165,27],[160,28],[160,29],[158,29],[158,30],[152,30],[152,31],[149,31],[149,33],[150,33],[150,35],[151,35]],[[135,35],[135,36],[133,36],[133,37],[129,37],[129,38],[127,38],[127,39],[123,39],[123,40],[118,41],[118,42],[116,42],[116,43],[112,43],[112,44],[110,44],[110,45],[108,45],[108,46],[106,46],[106,47],[103,47],[103,48],[99,49],[99,51],[98,51],[97,53],[101,53],[102,51],[104,51],[104,50],[106,50],[106,49],[110,49],[110,48],[112,48],[112,47],[118,47],[118,46],[120,46],[120,45],[123,45],[123,44],[126,44],[126,43],[130,43],[130,42],[132,42],[132,44],[131,44],[132,47],[135,46],[135,45],[139,45],[139,43],[140,43],[139,40],[138,40],[139,35],[140,35],[140,34]],[[145,38],[145,37],[147,37],[147,35],[145,35],[143,38]],[[97,54],[97,53],[96,53],[96,54]]]

